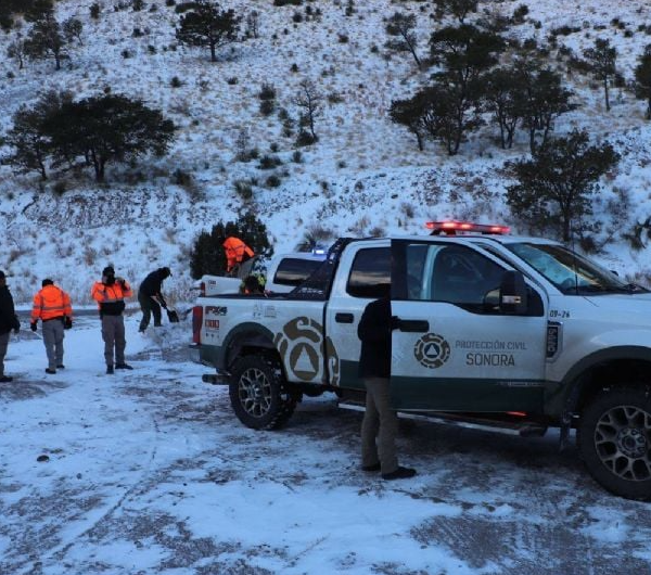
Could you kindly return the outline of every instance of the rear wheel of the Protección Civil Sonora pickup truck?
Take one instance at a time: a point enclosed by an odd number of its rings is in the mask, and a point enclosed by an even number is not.
[[[261,356],[237,360],[229,395],[238,419],[253,430],[281,427],[292,417],[297,401],[285,385],[278,361]]]

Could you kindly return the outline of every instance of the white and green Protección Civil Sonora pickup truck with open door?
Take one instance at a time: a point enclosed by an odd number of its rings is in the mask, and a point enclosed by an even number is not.
[[[486,231],[482,229],[481,231]],[[651,294],[562,244],[476,233],[340,240],[289,294],[202,297],[201,360],[238,418],[275,429],[304,395],[363,399],[357,324],[391,283],[399,413],[521,435],[577,430],[592,476],[651,499]]]

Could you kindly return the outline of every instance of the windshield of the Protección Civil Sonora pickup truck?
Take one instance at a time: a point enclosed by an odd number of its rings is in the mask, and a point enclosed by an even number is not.
[[[647,292],[562,245],[513,243],[507,247],[566,295]]]

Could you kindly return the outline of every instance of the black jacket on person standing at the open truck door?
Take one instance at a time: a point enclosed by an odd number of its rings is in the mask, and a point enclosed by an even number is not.
[[[391,376],[391,299],[371,302],[359,320],[357,336],[361,340],[360,378]]]

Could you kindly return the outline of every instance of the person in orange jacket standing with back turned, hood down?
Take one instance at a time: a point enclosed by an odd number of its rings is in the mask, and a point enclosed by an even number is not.
[[[31,306],[31,331],[36,331],[41,320],[43,344],[48,354],[46,373],[56,373],[63,365],[63,330],[73,327],[73,306],[71,296],[50,279],[41,282],[41,290],[34,296]]]

